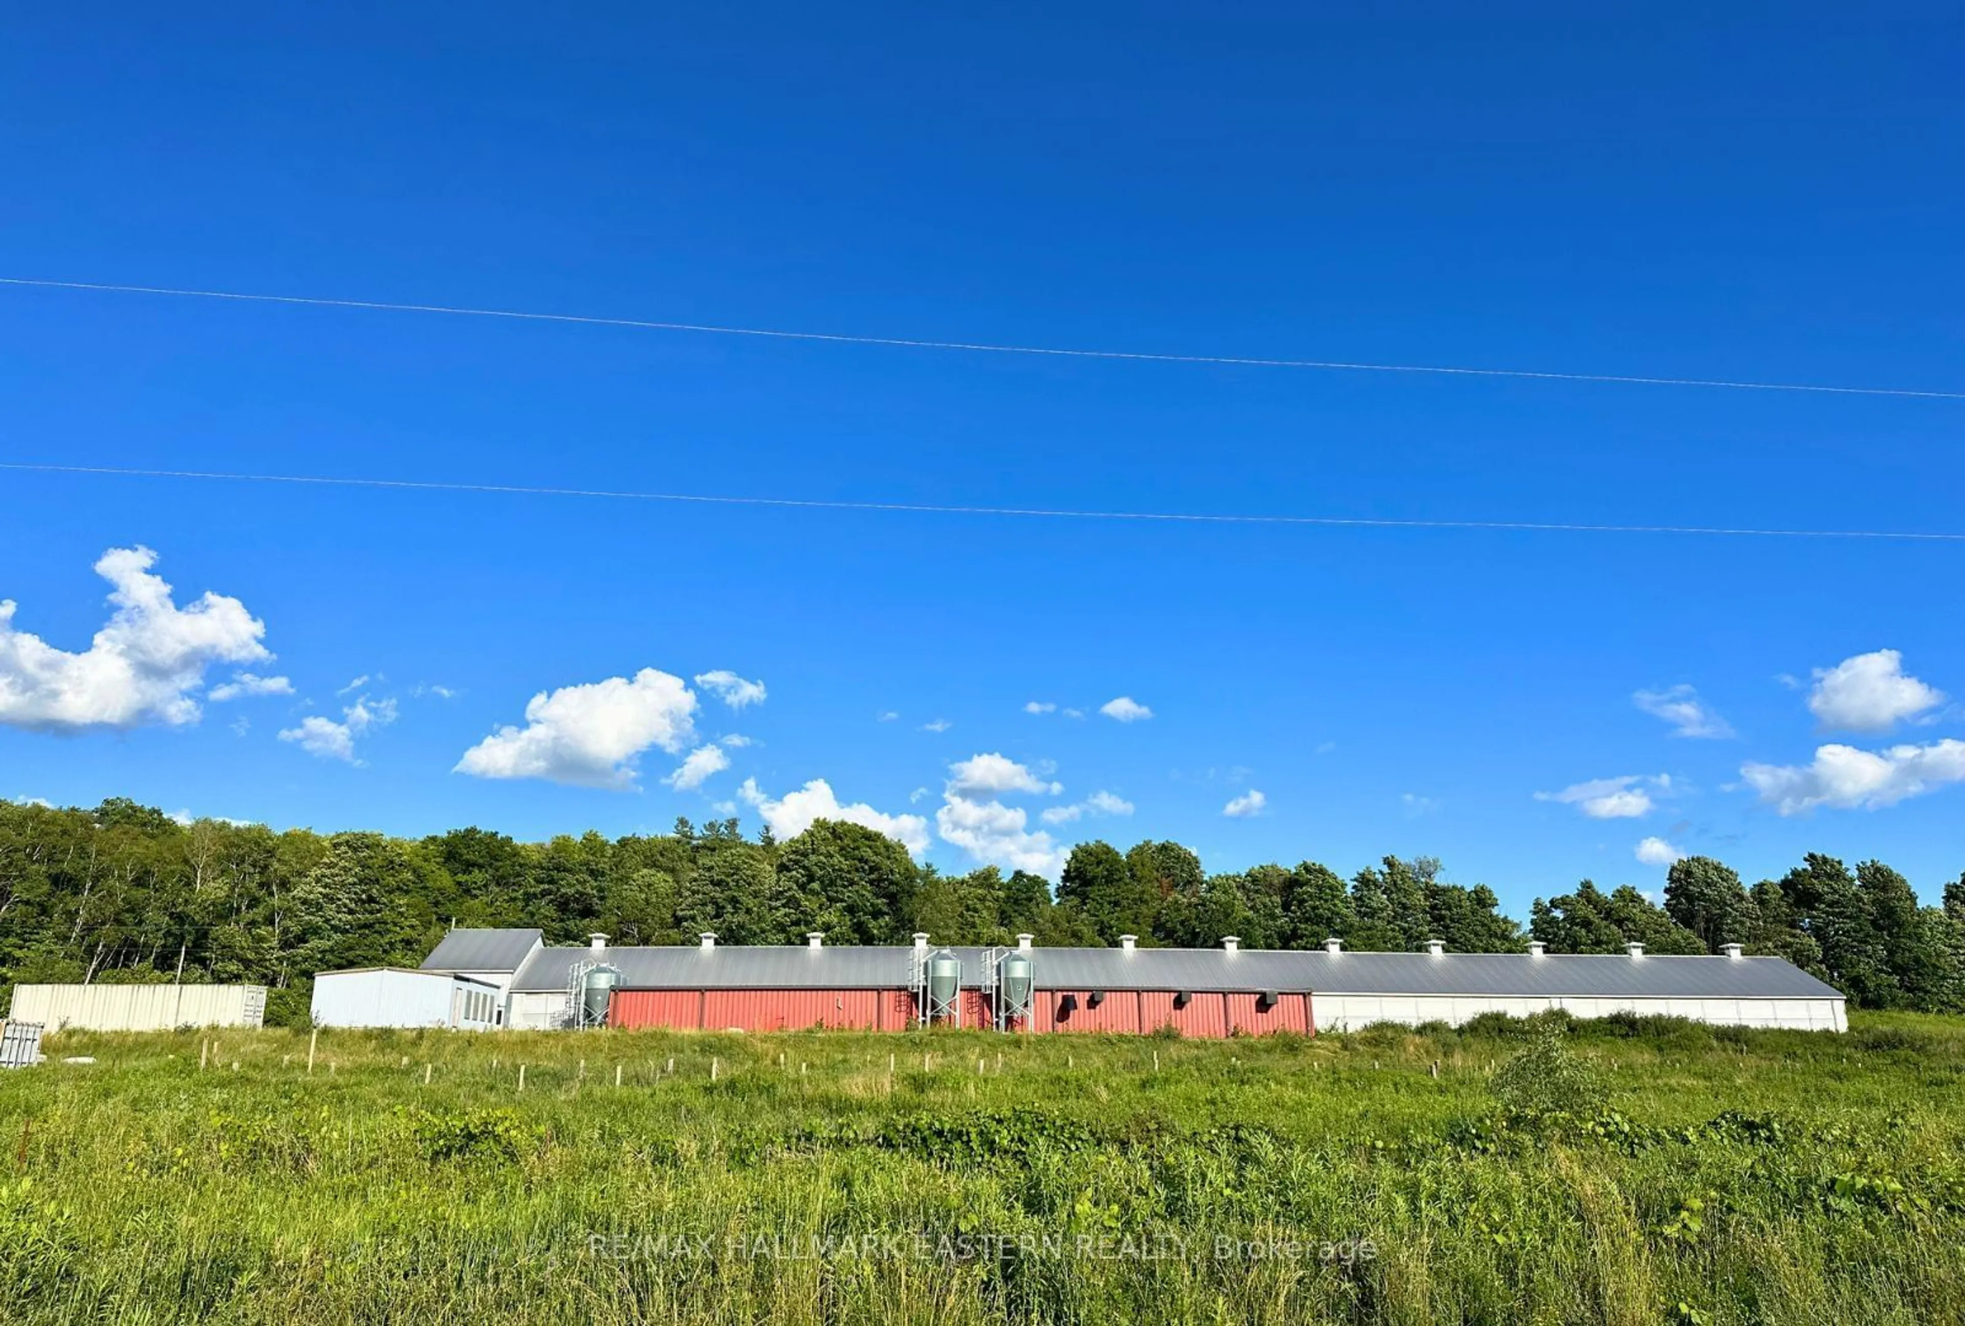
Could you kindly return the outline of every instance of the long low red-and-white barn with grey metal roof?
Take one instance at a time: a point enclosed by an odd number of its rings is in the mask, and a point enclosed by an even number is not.
[[[446,949],[483,963],[479,935],[452,931]],[[1845,1031],[1843,996],[1772,957],[1350,953],[1220,949],[796,947],[696,945],[544,947],[536,931],[495,931],[509,970],[472,968],[505,992],[495,1022],[515,1029],[584,1025],[786,1031],[924,1023],[1002,1031],[1260,1035],[1352,1031],[1374,1022],[1462,1023],[1480,1014],[1562,1008],[1578,1018],[1662,1014],[1696,1022]],[[521,945],[519,937],[531,935]],[[446,965],[448,970],[448,965]]]

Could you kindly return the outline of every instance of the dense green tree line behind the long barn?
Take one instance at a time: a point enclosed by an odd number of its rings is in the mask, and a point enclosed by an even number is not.
[[[417,965],[450,925],[525,925],[548,943],[937,943],[1413,951],[1749,953],[1784,957],[1865,1008],[1965,1010],[1965,878],[1920,906],[1879,860],[1822,855],[1751,888],[1710,856],[1670,868],[1662,906],[1590,880],[1537,898],[1529,923],[1434,858],[1385,856],[1342,878],[1305,860],[1203,870],[1179,843],[1083,843],[1053,888],[996,866],[947,874],[870,829],[819,821],[788,843],[735,819],[668,835],[519,843],[485,829],[424,839],[216,819],[179,823],[128,800],[94,809],[0,801],[0,986],[216,980],[271,988],[269,1018],[303,1022],[312,974]]]

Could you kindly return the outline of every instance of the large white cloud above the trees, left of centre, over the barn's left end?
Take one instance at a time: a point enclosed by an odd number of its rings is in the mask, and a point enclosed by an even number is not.
[[[607,678],[540,691],[525,705],[525,727],[501,727],[464,752],[458,774],[544,778],[580,788],[633,788],[637,758],[650,746],[680,754],[696,739],[696,693],[682,678],[643,668],[635,680]]]

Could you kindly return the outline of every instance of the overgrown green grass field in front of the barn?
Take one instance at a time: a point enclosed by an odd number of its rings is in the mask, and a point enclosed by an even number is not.
[[[1965,1023],[1525,1043],[73,1033],[0,1320],[1965,1320]]]

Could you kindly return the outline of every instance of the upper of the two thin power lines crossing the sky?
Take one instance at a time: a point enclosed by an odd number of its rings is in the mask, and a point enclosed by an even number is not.
[[[511,318],[519,322],[572,322],[580,326],[625,326],[646,332],[700,332],[709,336],[762,336],[770,340],[815,340],[841,346],[890,346],[902,350],[961,350],[969,354],[1028,354],[1063,359],[1132,359],[1138,363],[1214,363],[1228,367],[1326,369],[1346,373],[1438,373],[1446,377],[1529,377],[1566,383],[1619,383],[1627,387],[1723,387],[1729,391],[1808,391],[1845,397],[1918,397],[1926,401],[1965,401],[1965,391],[1910,391],[1902,387],[1831,387],[1820,383],[1749,383],[1713,377],[1637,377],[1627,373],[1552,373],[1539,369],[1448,367],[1438,363],[1346,363],[1340,359],[1260,359],[1210,354],[1151,354],[1142,350],[1067,350],[1057,346],[998,346],[963,340],[916,340],[908,336],[849,336],[841,332],[792,332],[760,326],[715,326],[707,322],[654,322],[646,318],[597,318],[572,312],[521,312],[515,308],[460,308],[452,304],[397,304],[371,299],[320,299],[312,295],[246,295],[238,291],[183,291],[157,285],[106,285],[96,281],[35,281],[0,277],[0,285],[49,291],[96,291],[108,295],[171,295],[177,299],[230,299],[252,304],[303,304],[309,308],[364,308],[369,312],[440,312],[464,318]]]

